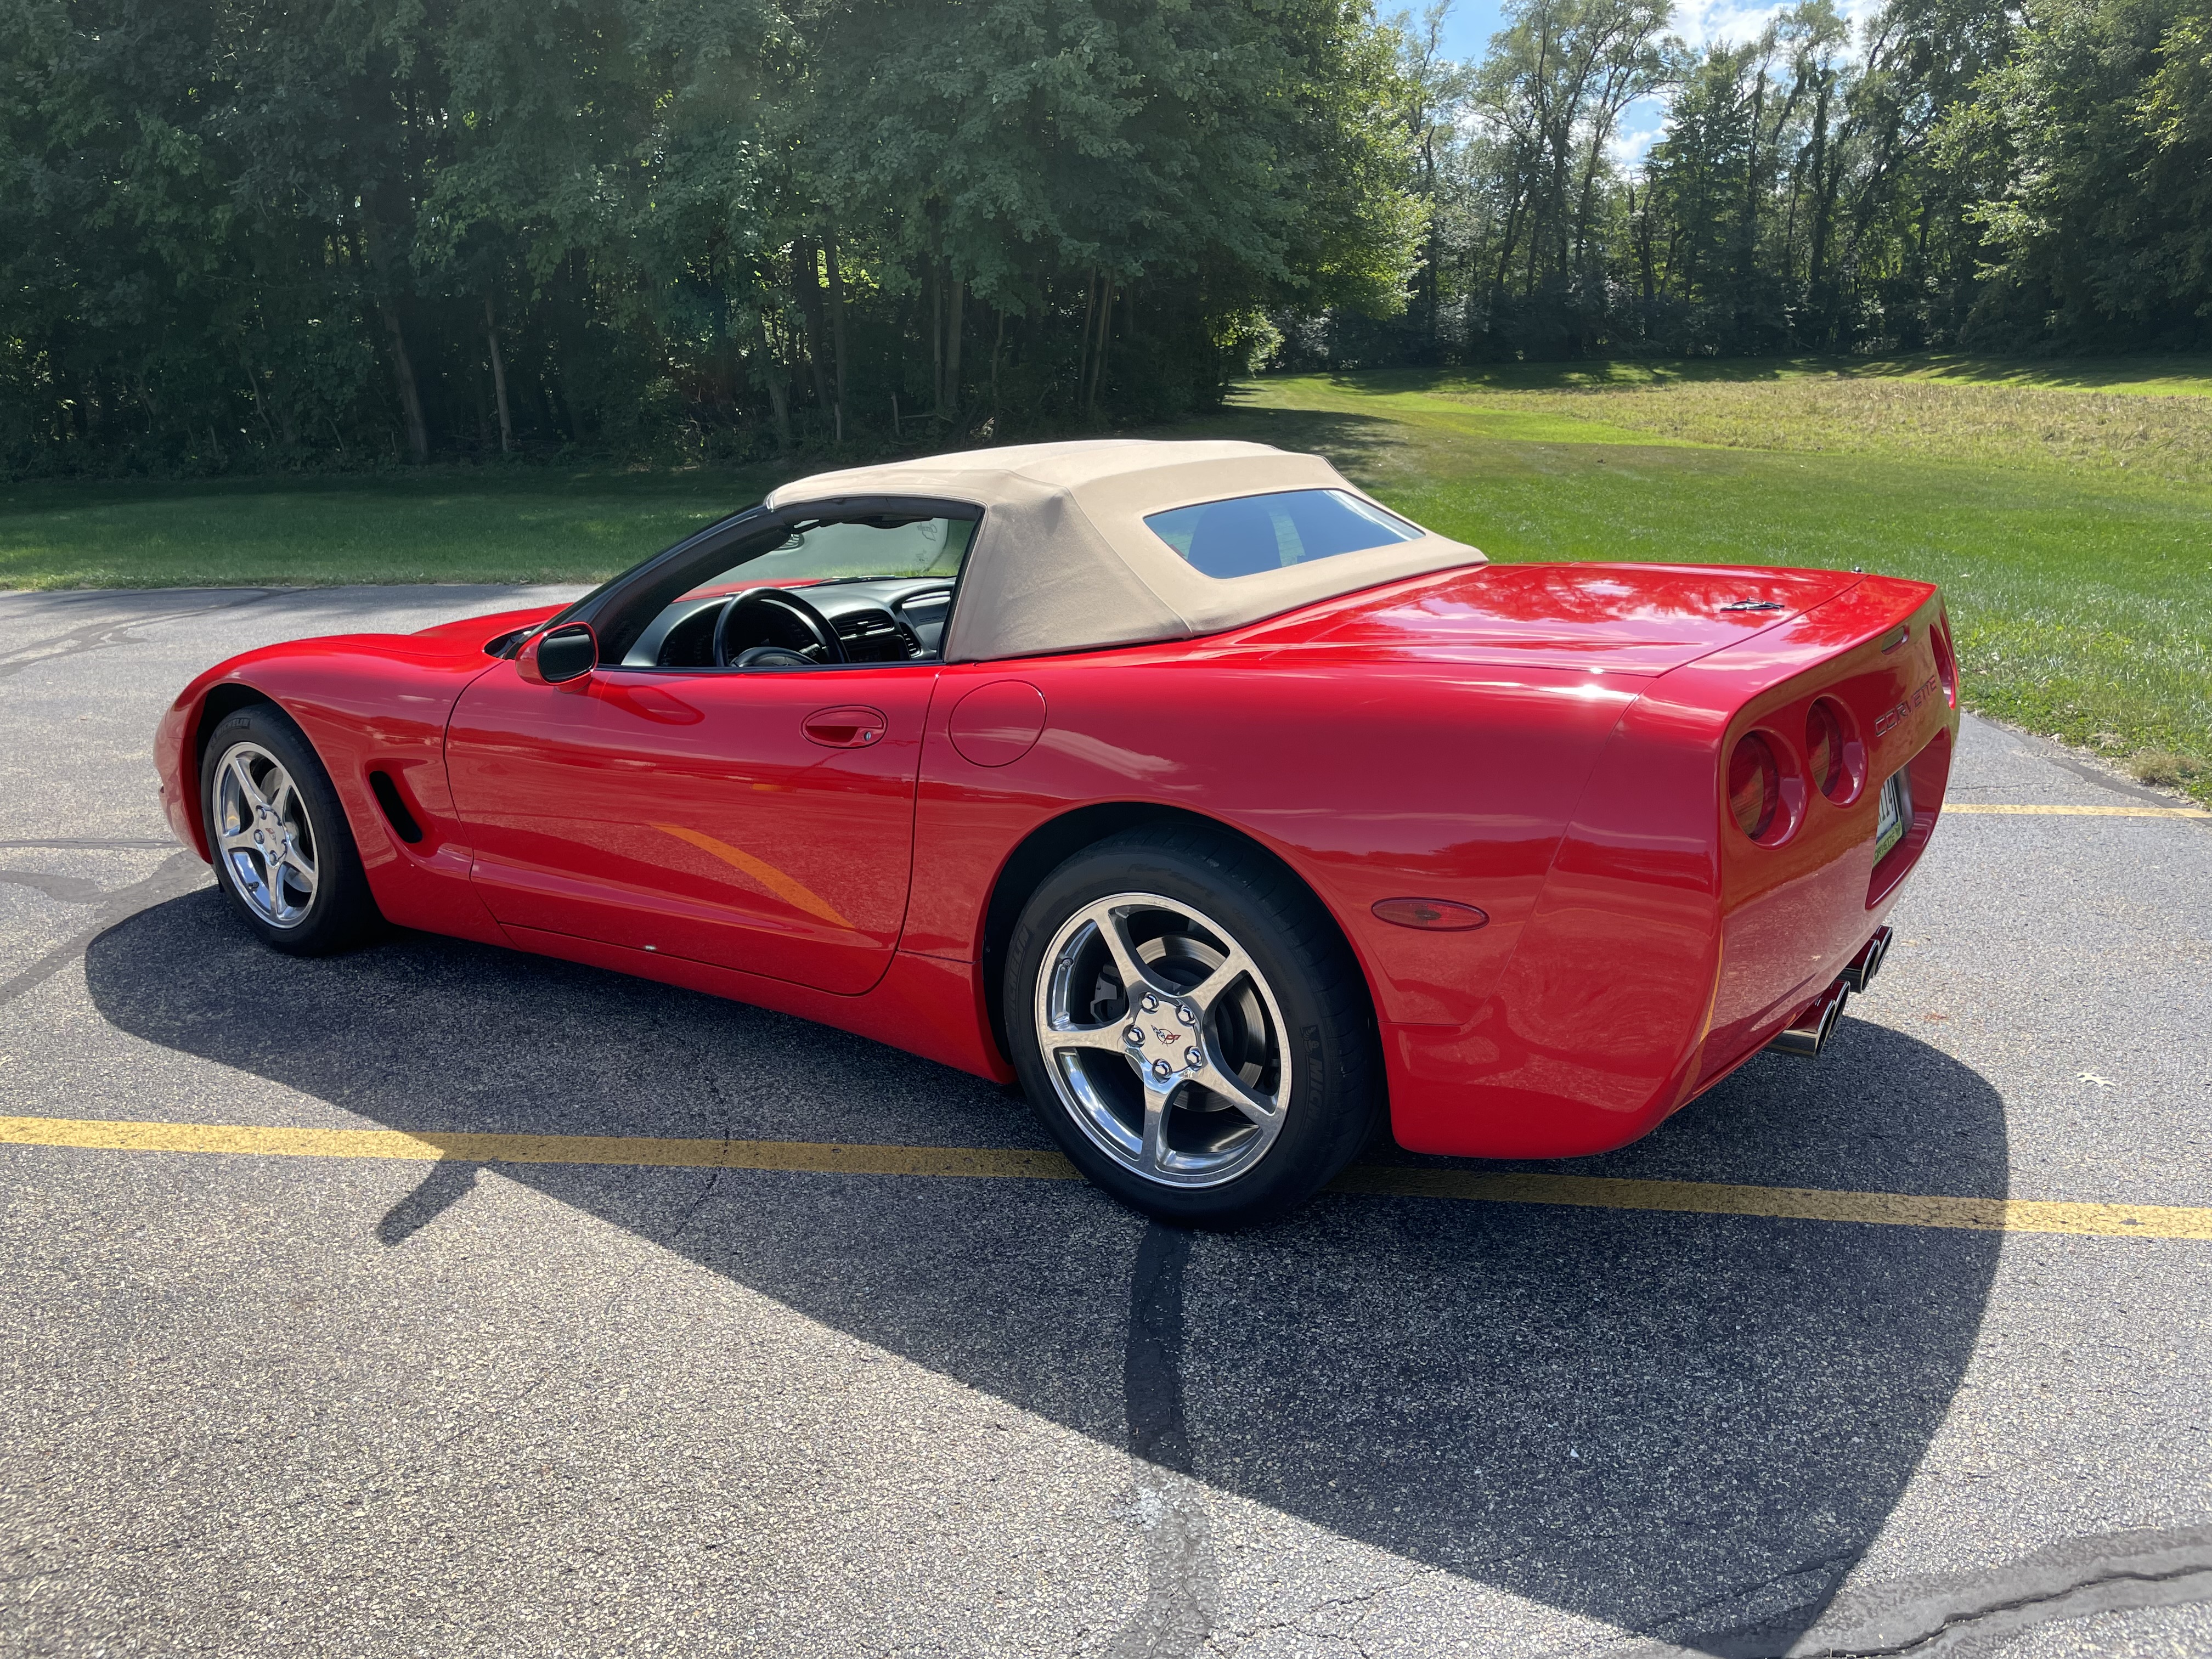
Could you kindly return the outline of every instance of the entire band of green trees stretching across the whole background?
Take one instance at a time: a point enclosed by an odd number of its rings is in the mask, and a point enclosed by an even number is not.
[[[2212,0],[1792,0],[1699,49],[1668,0],[1509,0],[1478,64],[1449,4],[0,0],[0,473],[2212,343]]]

